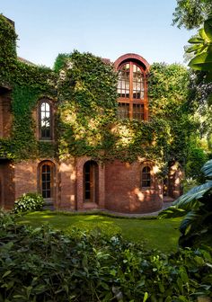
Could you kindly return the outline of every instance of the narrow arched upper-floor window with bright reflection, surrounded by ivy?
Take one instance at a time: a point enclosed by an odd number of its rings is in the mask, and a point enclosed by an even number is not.
[[[40,139],[52,139],[52,108],[48,101],[40,102]]]

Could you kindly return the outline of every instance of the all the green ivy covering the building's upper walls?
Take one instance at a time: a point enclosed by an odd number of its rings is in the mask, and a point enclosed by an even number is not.
[[[15,160],[89,155],[101,161],[133,162],[139,156],[161,166],[172,160],[183,163],[190,133],[197,127],[185,105],[190,77],[184,67],[154,64],[149,75],[150,120],[118,120],[112,64],[74,51],[58,55],[54,70],[27,65],[16,58],[16,35],[2,15],[0,31],[0,62],[6,53],[10,57],[0,69],[0,81],[12,88],[13,111],[12,136],[1,138],[0,153]],[[41,97],[54,100],[57,108],[55,144],[35,138],[32,111]]]

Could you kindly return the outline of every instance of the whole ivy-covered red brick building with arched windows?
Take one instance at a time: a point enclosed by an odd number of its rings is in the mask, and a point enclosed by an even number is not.
[[[55,209],[144,213],[181,194],[196,127],[184,67],[78,51],[37,67],[3,15],[0,41],[1,207],[40,192]]]

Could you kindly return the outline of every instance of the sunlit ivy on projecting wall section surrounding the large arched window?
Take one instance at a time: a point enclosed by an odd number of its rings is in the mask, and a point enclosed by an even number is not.
[[[167,160],[182,161],[186,140],[195,129],[184,106],[189,84],[184,67],[154,64],[149,76],[150,120],[118,120],[117,76],[112,67],[90,54],[75,51],[66,56],[58,97],[61,157],[90,155],[133,162],[142,156],[162,165]]]

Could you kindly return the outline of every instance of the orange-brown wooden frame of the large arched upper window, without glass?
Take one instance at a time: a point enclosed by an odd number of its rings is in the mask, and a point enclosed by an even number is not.
[[[133,119],[147,120],[147,118],[148,118],[148,108],[147,108],[148,102],[147,102],[146,72],[145,72],[144,68],[134,60],[128,60],[128,61],[125,61],[122,64],[120,64],[119,68],[118,68],[118,72],[126,64],[129,64],[129,97],[119,97],[118,102],[120,105],[128,104],[129,111],[128,111],[128,114],[126,114],[126,115],[128,116],[127,118],[129,120],[133,120]],[[133,66],[134,65],[137,66],[141,70],[141,72],[143,74],[143,79],[144,79],[144,97],[140,98],[140,99],[133,98]],[[140,115],[142,116],[141,119],[137,119],[137,117],[134,116],[134,113],[135,113],[135,111],[133,111],[134,105],[136,105],[136,106],[141,105],[141,111],[140,111]],[[142,110],[142,108],[143,108],[143,110]],[[119,109],[118,109],[118,111],[119,111]],[[137,112],[137,114],[138,114],[138,112]],[[119,115],[119,113],[118,113],[118,115]],[[121,116],[119,118],[121,119]]]

